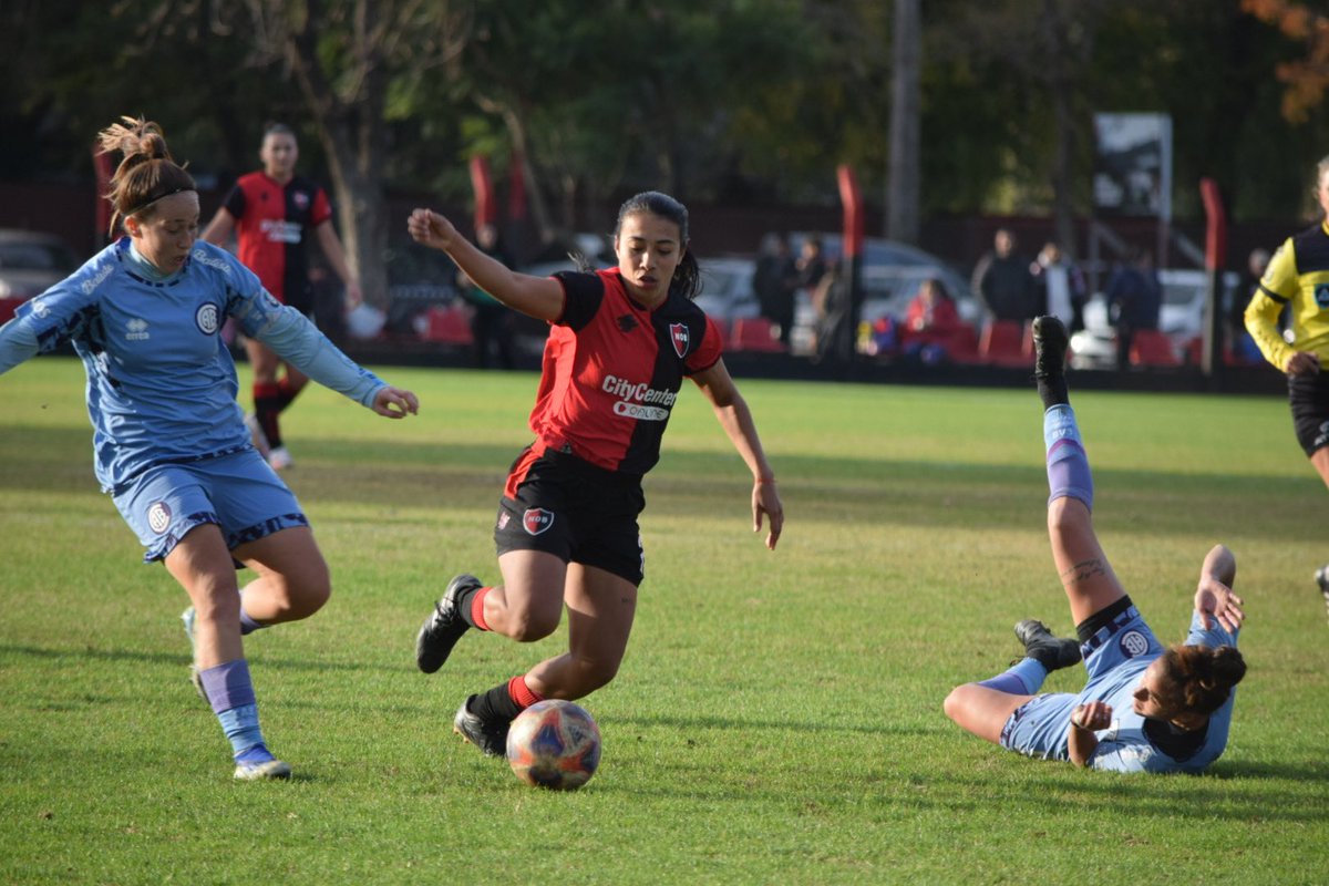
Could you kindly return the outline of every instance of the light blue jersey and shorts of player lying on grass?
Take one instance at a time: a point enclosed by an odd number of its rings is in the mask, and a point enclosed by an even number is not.
[[[1217,623],[1205,630],[1199,614],[1193,614],[1185,644],[1235,647],[1237,635],[1228,634]],[[1236,689],[1223,707],[1209,716],[1201,743],[1189,753],[1180,754],[1181,758],[1171,756],[1155,740],[1159,731],[1168,729],[1166,724],[1151,724],[1154,739],[1146,731],[1146,720],[1135,713],[1132,696],[1144,671],[1163,655],[1164,650],[1134,606],[1080,644],[1080,650],[1084,654],[1084,668],[1088,671],[1088,683],[1084,688],[1076,695],[1069,692],[1041,695],[1017,709],[1002,729],[1002,747],[1030,757],[1069,760],[1066,732],[1070,728],[1071,712],[1078,705],[1102,700],[1112,705],[1112,723],[1107,729],[1095,733],[1098,748],[1088,760],[1088,765],[1095,769],[1200,772],[1217,760],[1227,748]]]

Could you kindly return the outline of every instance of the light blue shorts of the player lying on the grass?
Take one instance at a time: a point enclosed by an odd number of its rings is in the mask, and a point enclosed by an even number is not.
[[[1104,700],[1118,707],[1123,693],[1139,681],[1150,663],[1163,654],[1163,646],[1144,618],[1134,606],[1111,624],[1080,643],[1088,683],[1079,693],[1049,692],[1021,705],[1006,720],[1001,732],[1001,745],[1030,757],[1067,757],[1066,729],[1071,712],[1080,704]]]

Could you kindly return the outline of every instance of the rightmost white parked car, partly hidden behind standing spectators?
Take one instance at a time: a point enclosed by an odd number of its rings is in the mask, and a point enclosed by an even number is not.
[[[1191,343],[1204,335],[1204,303],[1209,291],[1208,271],[1196,268],[1162,268],[1163,307],[1159,311],[1159,329],[1172,340],[1172,348],[1181,359]],[[1223,274],[1220,311],[1232,307],[1239,276],[1233,271]],[[1116,368],[1116,331],[1107,312],[1107,299],[1095,292],[1084,303],[1084,328],[1071,336],[1071,365],[1078,369]]]

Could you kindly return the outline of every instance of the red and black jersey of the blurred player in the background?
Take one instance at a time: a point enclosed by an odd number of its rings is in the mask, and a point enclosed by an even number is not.
[[[266,173],[241,175],[226,198],[235,219],[237,254],[263,287],[286,302],[310,286],[306,234],[332,218],[318,185],[296,175],[283,187]]]

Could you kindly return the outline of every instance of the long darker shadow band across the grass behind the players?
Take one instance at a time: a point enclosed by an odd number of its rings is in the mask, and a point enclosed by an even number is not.
[[[0,445],[0,490],[44,491],[86,487],[90,480],[88,432],[20,428],[21,445]],[[316,503],[363,507],[494,506],[518,448],[447,446],[376,441],[365,446],[339,440],[302,441],[300,468],[288,482],[307,507]],[[335,462],[335,464],[330,464]],[[781,489],[791,511],[807,521],[908,526],[1005,525],[1017,514],[1041,513],[1046,495],[1042,464],[974,465],[880,457],[780,460]],[[1280,542],[1321,541],[1314,521],[1286,521],[1289,502],[1318,502],[1322,491],[1308,472],[1300,477],[1168,470],[1096,470],[1096,514],[1102,529],[1155,533],[1231,533]],[[668,452],[646,481],[647,514],[708,513],[699,501],[743,501],[750,486],[731,453]],[[1232,507],[1241,501],[1241,507]],[[1203,518],[1204,525],[1197,525]],[[1039,521],[1031,531],[1042,531]]]

